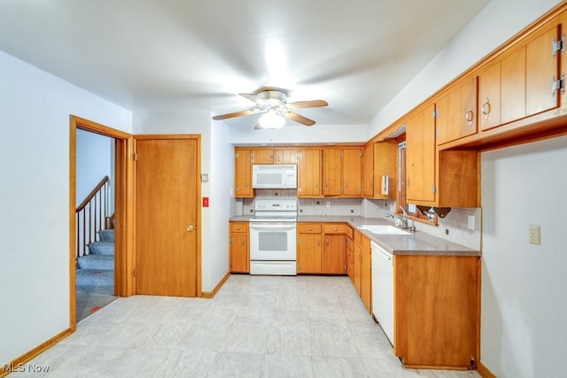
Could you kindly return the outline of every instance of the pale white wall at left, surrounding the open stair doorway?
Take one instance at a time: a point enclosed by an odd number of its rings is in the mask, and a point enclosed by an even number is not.
[[[0,363],[69,328],[69,115],[131,113],[0,51]]]

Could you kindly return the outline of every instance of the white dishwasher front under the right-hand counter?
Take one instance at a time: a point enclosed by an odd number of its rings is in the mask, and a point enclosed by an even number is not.
[[[393,345],[393,255],[377,243],[372,249],[372,313]]]

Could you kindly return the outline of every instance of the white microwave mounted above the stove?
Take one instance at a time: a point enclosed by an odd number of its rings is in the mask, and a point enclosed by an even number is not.
[[[292,164],[252,165],[252,188],[254,189],[297,189],[298,166]]]

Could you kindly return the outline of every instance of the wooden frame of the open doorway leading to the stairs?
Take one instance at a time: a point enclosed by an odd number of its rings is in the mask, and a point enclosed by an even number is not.
[[[115,189],[114,189],[114,295],[129,297],[136,292],[134,280],[134,137],[128,133],[107,127],[91,120],[70,115],[69,127],[69,320],[72,331],[76,329],[76,151],[77,129],[108,136],[115,141]],[[128,274],[128,272],[130,274]]]

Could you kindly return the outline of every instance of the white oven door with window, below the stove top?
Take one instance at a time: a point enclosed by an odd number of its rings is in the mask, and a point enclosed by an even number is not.
[[[295,222],[250,222],[250,259],[295,261]]]

